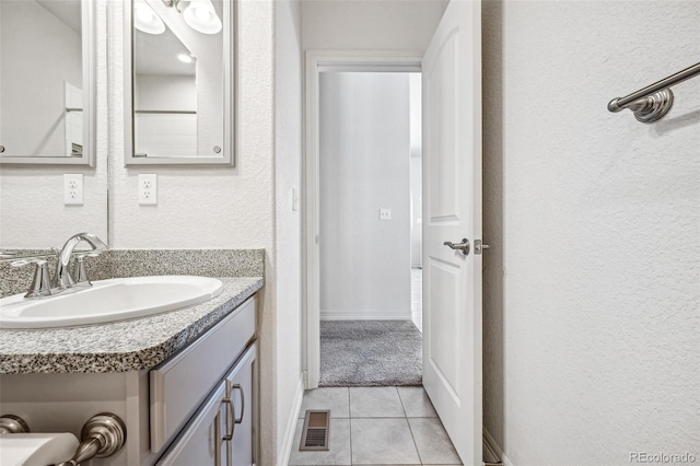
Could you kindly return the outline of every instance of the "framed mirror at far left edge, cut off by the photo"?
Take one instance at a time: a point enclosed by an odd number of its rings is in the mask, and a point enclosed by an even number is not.
[[[94,166],[92,1],[0,0],[0,164]]]

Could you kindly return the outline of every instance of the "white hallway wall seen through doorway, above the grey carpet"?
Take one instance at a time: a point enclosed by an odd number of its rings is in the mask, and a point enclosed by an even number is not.
[[[410,318],[409,74],[324,72],[319,96],[322,318]]]

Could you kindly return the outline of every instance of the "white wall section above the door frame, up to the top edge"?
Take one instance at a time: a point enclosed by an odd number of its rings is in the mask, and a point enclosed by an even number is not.
[[[304,1],[305,50],[424,50],[447,1]]]

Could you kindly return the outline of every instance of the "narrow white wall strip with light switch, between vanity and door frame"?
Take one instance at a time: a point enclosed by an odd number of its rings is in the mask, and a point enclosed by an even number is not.
[[[296,427],[298,397],[303,389],[301,310],[302,186],[301,4],[275,3],[275,244],[277,268],[277,464],[285,465]],[[293,191],[298,210],[293,210]],[[271,464],[271,463],[259,463]]]

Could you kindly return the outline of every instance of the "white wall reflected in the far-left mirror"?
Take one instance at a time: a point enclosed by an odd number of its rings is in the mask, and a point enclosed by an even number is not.
[[[65,82],[82,89],[80,34],[33,0],[3,1],[0,31],[5,155],[63,155]]]

